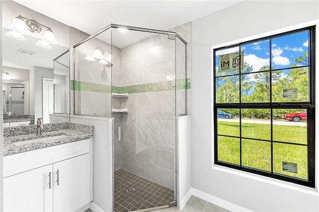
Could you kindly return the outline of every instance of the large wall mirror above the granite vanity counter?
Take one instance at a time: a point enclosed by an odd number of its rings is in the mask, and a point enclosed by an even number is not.
[[[33,116],[49,123],[48,114],[69,114],[68,48],[42,48],[35,45],[37,38],[17,40],[7,31],[2,28],[2,71],[10,76],[2,80],[3,119]]]

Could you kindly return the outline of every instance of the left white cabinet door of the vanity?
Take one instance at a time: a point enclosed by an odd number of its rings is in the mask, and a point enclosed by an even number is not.
[[[3,211],[52,212],[52,177],[47,165],[3,178]]]

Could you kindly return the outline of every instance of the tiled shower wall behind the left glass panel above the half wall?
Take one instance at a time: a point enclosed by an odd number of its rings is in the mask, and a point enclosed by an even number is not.
[[[75,48],[75,114],[111,117],[111,68],[100,64],[100,59],[85,60],[87,55],[93,55],[96,48],[103,52],[103,59],[106,60],[111,53],[110,35],[111,30],[107,30]],[[115,55],[116,52],[114,58]]]

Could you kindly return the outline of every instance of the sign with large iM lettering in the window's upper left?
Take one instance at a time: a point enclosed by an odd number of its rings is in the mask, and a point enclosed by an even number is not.
[[[219,55],[218,72],[239,71],[244,69],[244,52]]]

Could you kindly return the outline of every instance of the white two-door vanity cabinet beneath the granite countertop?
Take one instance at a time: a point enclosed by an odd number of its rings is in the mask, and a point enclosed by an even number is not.
[[[70,212],[87,205],[91,145],[86,139],[3,157],[3,211]]]

